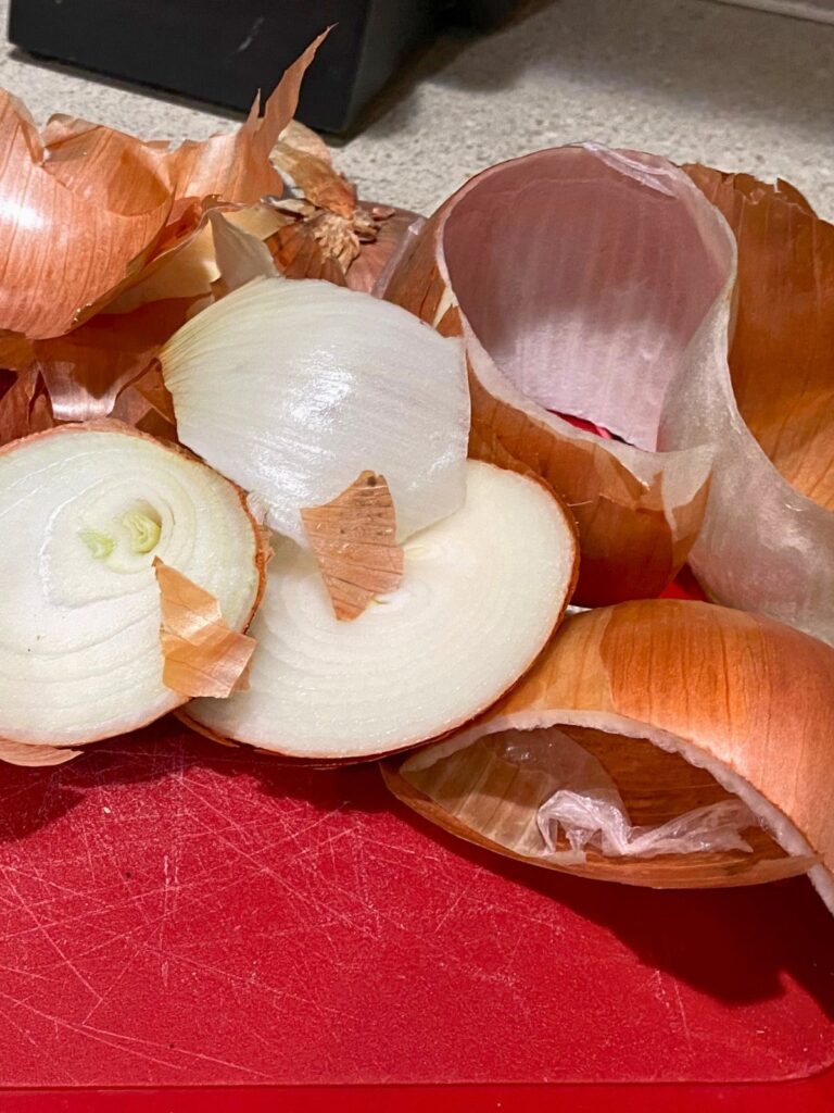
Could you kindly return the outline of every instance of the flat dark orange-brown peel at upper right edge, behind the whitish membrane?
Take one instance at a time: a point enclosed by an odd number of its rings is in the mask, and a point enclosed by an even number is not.
[[[729,349],[738,410],[788,483],[834,511],[834,225],[788,183],[684,169],[738,245]]]

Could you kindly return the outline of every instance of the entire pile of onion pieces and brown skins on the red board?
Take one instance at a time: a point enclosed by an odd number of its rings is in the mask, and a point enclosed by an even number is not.
[[[361,205],[290,120],[319,41],[176,149],[4,101],[0,757],[175,708],[317,764],[434,742],[390,787],[499,853],[810,871],[831,903],[834,649],[620,600],[688,560],[831,640],[832,229],[784,184],[593,145],[428,224]],[[557,631],[577,574],[616,605]]]

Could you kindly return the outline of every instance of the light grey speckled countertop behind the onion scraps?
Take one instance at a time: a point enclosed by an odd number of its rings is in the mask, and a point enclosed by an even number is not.
[[[0,85],[39,120],[64,111],[172,138],[229,127],[8,45]],[[832,26],[709,0],[533,0],[492,35],[437,40],[336,146],[365,196],[421,211],[490,162],[595,139],[781,175],[832,217],[833,137]]]

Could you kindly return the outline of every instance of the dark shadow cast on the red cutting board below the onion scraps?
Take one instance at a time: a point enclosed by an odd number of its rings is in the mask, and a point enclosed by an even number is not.
[[[90,792],[163,778],[250,778],[265,797],[322,815],[391,811],[431,845],[478,870],[524,886],[613,933],[647,968],[728,1004],[777,998],[783,978],[803,986],[834,1020],[831,916],[805,879],[701,892],[657,892],[589,881],[510,861],[455,839],[390,798],[374,765],[312,769],[198,738],[176,720],[92,747],[52,769],[0,764],[0,844],[19,844],[67,816]],[[115,798],[115,797],[113,797]],[[152,817],[150,820],[152,821]]]

